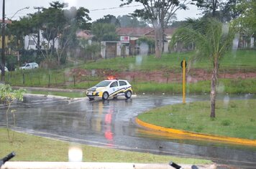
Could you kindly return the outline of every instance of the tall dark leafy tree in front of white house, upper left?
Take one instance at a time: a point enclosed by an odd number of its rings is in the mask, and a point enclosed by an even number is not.
[[[67,4],[54,1],[50,3],[48,9],[42,9],[41,13],[31,15],[32,23],[37,23],[38,29],[42,30],[42,37],[47,39],[46,43],[42,43],[45,50],[40,49],[42,55],[49,60],[53,54],[56,54],[58,64],[65,54],[65,49],[78,44],[77,30],[88,28],[90,24],[87,21],[91,20],[88,9],[71,7],[69,10],[64,10],[65,7]],[[59,43],[58,47],[55,47],[57,39]]]

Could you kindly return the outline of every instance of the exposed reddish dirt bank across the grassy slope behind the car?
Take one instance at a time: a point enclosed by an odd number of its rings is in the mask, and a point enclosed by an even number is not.
[[[85,77],[102,77],[106,79],[108,76],[114,76],[118,79],[127,79],[129,82],[182,82],[183,73],[177,70],[170,70],[168,72],[161,71],[151,71],[151,72],[116,72],[111,69],[96,69],[96,70],[86,70],[86,69],[71,69],[68,72],[69,76],[76,76],[76,80],[83,81]],[[256,72],[245,72],[244,70],[229,70],[229,71],[219,71],[219,79],[249,79],[256,78]],[[190,72],[186,72],[187,82],[198,82],[202,80],[211,80],[211,71],[205,69],[191,69]]]

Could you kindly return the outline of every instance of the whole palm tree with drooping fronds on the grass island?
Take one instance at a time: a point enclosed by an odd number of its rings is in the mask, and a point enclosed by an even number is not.
[[[211,115],[215,117],[216,84],[221,58],[232,47],[234,27],[221,24],[221,21],[209,18],[199,21],[190,19],[189,24],[180,27],[173,34],[172,44],[176,42],[194,42],[198,57],[209,57],[211,61]]]

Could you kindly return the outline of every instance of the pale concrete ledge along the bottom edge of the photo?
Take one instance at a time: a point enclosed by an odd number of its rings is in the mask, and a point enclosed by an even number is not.
[[[191,168],[191,165],[183,165],[182,168]],[[197,165],[198,168],[215,169],[216,164]],[[1,169],[173,169],[168,164],[163,163],[90,163],[90,162],[6,162]]]

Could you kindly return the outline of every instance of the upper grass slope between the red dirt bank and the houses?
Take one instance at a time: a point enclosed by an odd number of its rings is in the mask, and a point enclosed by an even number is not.
[[[116,57],[114,59],[101,59],[97,62],[85,64],[85,69],[109,69],[112,71],[153,71],[163,69],[180,68],[180,62],[183,59],[190,59],[194,52],[180,52],[172,54],[163,54],[160,59],[153,55],[143,57]],[[237,50],[227,53],[220,62],[221,69],[256,69],[255,50]],[[114,64],[113,64],[114,63]],[[209,69],[212,63],[209,57],[203,57],[193,62],[193,68]]]

